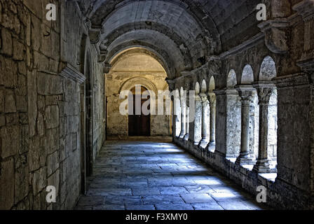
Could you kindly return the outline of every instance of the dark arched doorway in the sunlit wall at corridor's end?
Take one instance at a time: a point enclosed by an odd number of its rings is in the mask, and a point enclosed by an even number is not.
[[[133,94],[133,100],[130,100],[129,105],[133,105],[133,113],[132,115],[129,115],[129,136],[135,137],[135,136],[151,136],[151,116],[150,115],[144,115],[142,110],[140,115],[136,115],[136,102],[135,102],[135,87],[132,88],[132,94]],[[146,91],[145,87],[141,87],[141,94]],[[141,99],[141,108],[149,99]]]

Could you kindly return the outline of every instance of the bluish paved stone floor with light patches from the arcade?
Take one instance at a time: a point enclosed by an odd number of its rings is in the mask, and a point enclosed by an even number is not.
[[[107,141],[88,186],[76,209],[265,209],[170,141]]]

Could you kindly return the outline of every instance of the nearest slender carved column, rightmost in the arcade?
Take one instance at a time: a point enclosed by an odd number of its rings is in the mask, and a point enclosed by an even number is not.
[[[259,157],[253,170],[258,173],[272,172],[268,160],[268,106],[274,85],[255,85],[259,96]]]

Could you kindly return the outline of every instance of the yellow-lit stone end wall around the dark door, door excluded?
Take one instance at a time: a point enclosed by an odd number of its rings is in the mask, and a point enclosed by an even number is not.
[[[128,139],[128,115],[123,116],[119,107],[121,90],[131,90],[143,85],[151,90],[169,90],[165,82],[167,74],[163,66],[153,57],[144,53],[125,55],[111,64],[110,73],[105,76],[107,97],[107,138]],[[151,136],[171,136],[172,116],[151,115]]]

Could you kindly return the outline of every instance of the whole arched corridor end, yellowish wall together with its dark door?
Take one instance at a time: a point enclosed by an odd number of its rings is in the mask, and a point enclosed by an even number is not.
[[[108,108],[107,138],[169,137],[172,116],[170,114],[171,103],[168,99],[169,85],[165,81],[168,73],[165,71],[165,65],[161,64],[161,60],[158,59],[158,55],[154,55],[153,52],[143,48],[129,48],[112,57],[110,63],[111,69],[105,76]],[[142,90],[144,92],[149,91],[150,101],[144,96],[140,101],[142,105],[146,103],[151,107],[149,115],[137,113],[137,118],[135,115],[129,116],[120,111],[121,104],[125,106],[128,104],[128,99],[126,99],[128,94],[125,92],[134,91],[132,89],[136,85],[144,87],[145,90]],[[159,94],[160,92],[163,94]],[[134,106],[135,109],[143,112],[141,110],[142,105]],[[177,124],[175,127],[177,129]]]

